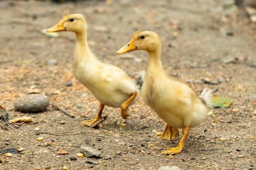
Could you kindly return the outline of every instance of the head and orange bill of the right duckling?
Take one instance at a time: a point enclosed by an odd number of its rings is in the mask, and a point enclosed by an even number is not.
[[[135,50],[144,50],[153,52],[162,48],[160,36],[152,30],[140,30],[133,34],[132,40],[117,51],[117,54],[123,54]]]

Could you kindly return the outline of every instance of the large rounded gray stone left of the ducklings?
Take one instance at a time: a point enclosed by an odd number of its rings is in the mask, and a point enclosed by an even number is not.
[[[22,112],[37,113],[45,110],[49,103],[50,99],[46,95],[31,94],[16,98],[14,107]]]

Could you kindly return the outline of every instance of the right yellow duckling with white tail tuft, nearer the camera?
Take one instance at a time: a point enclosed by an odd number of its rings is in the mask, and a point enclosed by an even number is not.
[[[166,148],[162,154],[182,152],[189,129],[200,124],[211,107],[212,89],[205,88],[200,97],[185,84],[166,75],[161,61],[162,41],[155,31],[141,30],[117,51],[122,54],[135,50],[148,52],[149,64],[141,87],[141,95],[150,108],[166,122],[160,139],[175,139],[182,128],[182,139],[176,148]]]

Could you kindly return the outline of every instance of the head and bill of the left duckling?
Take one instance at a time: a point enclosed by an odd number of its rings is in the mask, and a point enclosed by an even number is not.
[[[72,31],[80,33],[85,30],[87,30],[85,16],[81,13],[70,13],[65,15],[58,24],[47,29],[47,32]]]

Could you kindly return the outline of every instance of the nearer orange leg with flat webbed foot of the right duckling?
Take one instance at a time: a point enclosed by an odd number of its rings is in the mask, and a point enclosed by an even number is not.
[[[186,142],[186,137],[188,136],[189,134],[189,126],[184,126],[184,128],[182,129],[182,139],[178,145],[178,147],[176,148],[166,148],[162,154],[169,154],[169,155],[174,155],[174,154],[177,154],[177,153],[181,153],[183,148],[184,148],[184,145],[185,145],[185,142]]]

